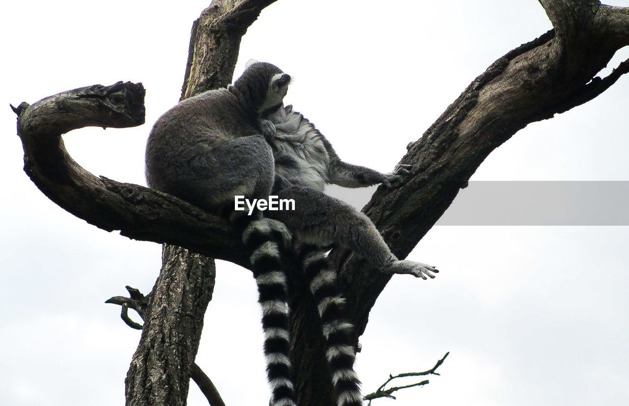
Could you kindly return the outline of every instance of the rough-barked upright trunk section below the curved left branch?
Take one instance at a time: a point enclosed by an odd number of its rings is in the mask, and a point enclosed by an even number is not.
[[[164,245],[162,271],[125,380],[127,405],[186,404],[215,271],[212,259]]]

